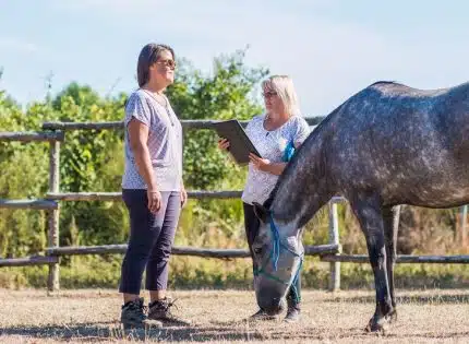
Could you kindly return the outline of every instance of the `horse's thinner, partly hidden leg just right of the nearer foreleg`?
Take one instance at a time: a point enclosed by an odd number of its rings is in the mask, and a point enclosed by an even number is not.
[[[396,297],[394,294],[394,265],[396,263],[396,247],[397,247],[397,230],[399,228],[400,205],[389,206],[383,209],[383,226],[384,239],[386,246],[386,270],[387,282],[389,285],[390,301],[393,305],[393,312],[389,315],[390,320],[397,319],[396,312]]]

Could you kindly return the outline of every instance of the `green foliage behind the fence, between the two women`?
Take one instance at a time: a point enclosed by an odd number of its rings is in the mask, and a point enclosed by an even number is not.
[[[255,96],[268,71],[251,68],[244,62],[245,50],[214,60],[214,71],[204,75],[187,61],[178,71],[177,81],[168,96],[182,119],[251,119],[261,114]],[[192,190],[240,189],[245,169],[239,168],[217,149],[213,130],[187,130],[184,134],[184,183]],[[239,200],[205,200],[190,202],[183,212],[177,239],[183,244],[208,246],[240,246],[244,244],[242,203]],[[212,228],[212,229],[209,229]],[[216,229],[215,229],[216,228]],[[209,230],[221,232],[225,242],[213,242]]]

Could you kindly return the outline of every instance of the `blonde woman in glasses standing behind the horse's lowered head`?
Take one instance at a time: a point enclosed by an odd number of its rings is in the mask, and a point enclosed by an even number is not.
[[[252,257],[252,244],[260,227],[253,203],[263,204],[267,200],[294,149],[298,149],[310,133],[306,121],[300,116],[291,78],[270,76],[262,83],[262,90],[266,111],[264,115],[254,117],[245,129],[248,137],[263,157],[250,155],[248,180],[242,193],[244,227]],[[221,150],[228,150],[229,142],[221,139],[218,146]],[[253,269],[255,270],[256,266]],[[286,321],[293,322],[300,319],[300,278],[297,278],[296,286],[288,293]],[[251,318],[275,319],[262,309]]]

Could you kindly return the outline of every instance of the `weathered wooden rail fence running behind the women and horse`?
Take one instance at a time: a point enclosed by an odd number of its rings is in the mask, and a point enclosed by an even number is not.
[[[310,126],[317,124],[322,117],[306,119]],[[183,120],[184,130],[212,129],[215,120]],[[242,122],[243,126],[246,122]],[[44,199],[36,200],[1,200],[0,207],[10,209],[35,209],[48,212],[47,248],[44,254],[25,258],[0,259],[0,266],[24,266],[48,264],[49,274],[47,288],[50,292],[60,288],[59,262],[61,256],[72,254],[105,254],[124,253],[127,245],[103,245],[103,246],[59,246],[59,213],[60,202],[67,201],[121,201],[120,192],[60,192],[59,180],[59,156],[60,144],[64,141],[64,132],[68,130],[122,130],[123,122],[45,122],[43,132],[0,132],[0,141],[32,142],[47,141],[49,149],[49,190]],[[188,191],[192,199],[238,199],[241,191]],[[342,198],[335,197],[328,203],[329,214],[329,239],[328,244],[320,246],[306,246],[306,256],[320,256],[321,260],[329,262],[329,289],[340,288],[340,262],[365,263],[368,256],[340,254],[339,228],[337,203],[345,202]],[[218,259],[248,258],[245,249],[215,249],[195,247],[173,247],[173,254],[193,256]],[[469,263],[469,256],[399,256],[398,263]]]

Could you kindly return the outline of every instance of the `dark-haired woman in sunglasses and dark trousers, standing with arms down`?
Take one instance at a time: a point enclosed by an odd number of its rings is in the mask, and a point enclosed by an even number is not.
[[[119,287],[124,328],[184,323],[170,313],[172,301],[166,295],[168,261],[187,200],[182,127],[165,96],[175,80],[175,51],[169,46],[143,47],[137,62],[140,88],[125,105],[122,198],[131,228]],[[144,270],[151,297],[147,315],[140,297]]]

